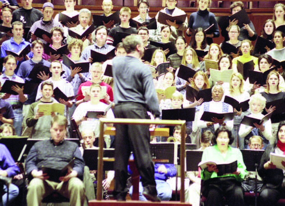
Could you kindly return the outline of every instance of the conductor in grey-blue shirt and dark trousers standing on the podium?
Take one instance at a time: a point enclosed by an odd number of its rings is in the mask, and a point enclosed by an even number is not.
[[[127,56],[113,59],[115,117],[149,119],[148,109],[155,116],[159,116],[160,110],[150,69],[140,61],[144,53],[141,37],[127,36],[123,40],[123,47]],[[132,151],[144,188],[143,195],[148,200],[159,202],[149,149],[149,126],[132,124],[115,126],[115,199],[119,201],[126,199],[127,165]]]

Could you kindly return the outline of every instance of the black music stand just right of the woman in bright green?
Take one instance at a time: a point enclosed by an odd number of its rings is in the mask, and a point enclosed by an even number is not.
[[[255,171],[255,206],[257,205],[257,168],[260,164],[261,157],[264,153],[263,149],[241,149],[243,154],[243,162],[248,171]]]

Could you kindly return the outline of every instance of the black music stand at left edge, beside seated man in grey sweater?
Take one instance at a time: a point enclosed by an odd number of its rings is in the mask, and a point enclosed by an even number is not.
[[[2,137],[0,143],[4,144],[7,149],[10,151],[11,156],[15,162],[18,162],[18,157],[21,154],[21,151],[24,145],[27,142],[28,137],[17,137],[17,136],[8,136]]]

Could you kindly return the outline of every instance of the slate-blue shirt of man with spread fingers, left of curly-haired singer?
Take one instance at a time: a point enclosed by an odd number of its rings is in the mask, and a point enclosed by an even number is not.
[[[17,73],[17,76],[21,77],[22,79],[26,81],[31,81],[32,79],[28,78],[30,72],[35,66],[35,62],[32,61],[32,59],[29,59],[25,62],[23,62],[20,67],[19,71]],[[42,59],[38,64],[42,64],[44,66],[50,67],[50,62]],[[32,94],[28,95],[28,99],[24,102],[24,104],[32,104],[36,101],[36,95],[37,95],[37,87],[34,89]]]

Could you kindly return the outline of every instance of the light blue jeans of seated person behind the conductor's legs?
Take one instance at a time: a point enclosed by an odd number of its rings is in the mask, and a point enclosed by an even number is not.
[[[157,196],[160,198],[162,201],[168,201],[171,199],[172,195],[172,190],[170,185],[164,181],[164,180],[155,180],[156,183],[156,190],[157,190]],[[141,201],[147,201],[145,196],[142,195],[143,192],[143,187],[142,187],[142,182],[139,183],[139,200]],[[130,197],[132,197],[132,187],[130,187],[130,192],[129,192]]]

